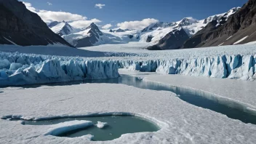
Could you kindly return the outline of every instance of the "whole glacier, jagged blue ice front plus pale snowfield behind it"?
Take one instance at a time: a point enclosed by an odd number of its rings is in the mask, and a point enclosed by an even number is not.
[[[78,54],[81,55],[77,57],[28,54],[24,50],[27,47],[17,47],[20,53],[16,52],[17,49],[9,49],[7,52],[0,52],[0,86],[111,79],[119,77],[119,68],[219,79],[256,79],[253,44],[161,52],[146,51],[141,49],[143,46],[144,44],[131,43],[92,47],[95,51],[89,51],[91,53],[79,49]],[[5,51],[4,47],[1,49]],[[92,55],[84,57],[82,52],[87,52],[87,56]],[[97,57],[95,52],[102,57]]]

